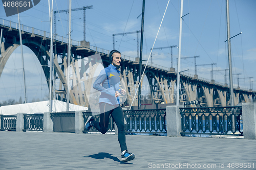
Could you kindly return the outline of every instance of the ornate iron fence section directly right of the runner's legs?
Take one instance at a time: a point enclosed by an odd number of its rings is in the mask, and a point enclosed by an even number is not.
[[[166,109],[124,110],[127,134],[166,135]]]

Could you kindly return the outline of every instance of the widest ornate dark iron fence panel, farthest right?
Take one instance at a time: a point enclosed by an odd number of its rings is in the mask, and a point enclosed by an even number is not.
[[[180,108],[182,135],[243,135],[242,107]]]

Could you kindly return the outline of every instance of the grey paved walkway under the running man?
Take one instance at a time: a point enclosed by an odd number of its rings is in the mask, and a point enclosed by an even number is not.
[[[136,158],[121,163],[116,135],[0,132],[0,169],[256,169],[256,140],[126,135],[126,143]]]

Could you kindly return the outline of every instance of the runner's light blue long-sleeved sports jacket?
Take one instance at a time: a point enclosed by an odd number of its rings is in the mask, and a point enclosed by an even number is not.
[[[111,105],[120,104],[119,96],[116,98],[116,91],[120,92],[120,71],[116,66],[110,64],[100,71],[99,76],[93,83],[93,88],[100,91],[99,103],[104,102]]]

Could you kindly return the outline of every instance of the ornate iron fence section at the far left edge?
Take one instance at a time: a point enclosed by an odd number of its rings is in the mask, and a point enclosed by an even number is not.
[[[17,115],[1,115],[1,129],[8,131],[16,131]]]

